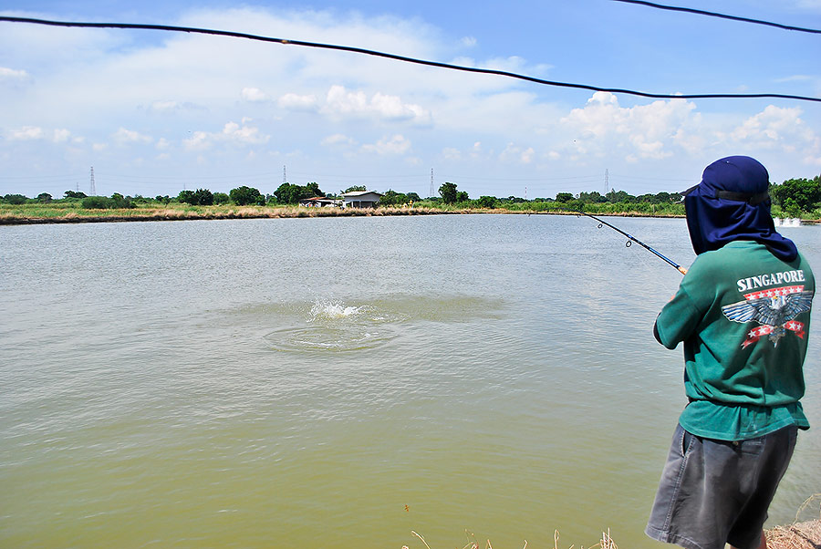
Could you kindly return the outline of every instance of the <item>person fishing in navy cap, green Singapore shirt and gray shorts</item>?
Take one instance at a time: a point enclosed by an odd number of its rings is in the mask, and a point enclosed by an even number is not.
[[[646,533],[690,549],[765,548],[762,528],[789,464],[815,279],[775,231],[758,161],[713,162],[685,192],[697,254],[654,335],[683,343],[681,412]]]

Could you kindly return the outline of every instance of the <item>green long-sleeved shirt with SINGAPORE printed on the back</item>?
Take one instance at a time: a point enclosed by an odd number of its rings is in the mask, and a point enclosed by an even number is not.
[[[799,254],[735,241],[700,254],[656,319],[664,347],[684,343],[679,423],[695,435],[745,440],[790,424],[809,428],[804,357],[816,284]]]

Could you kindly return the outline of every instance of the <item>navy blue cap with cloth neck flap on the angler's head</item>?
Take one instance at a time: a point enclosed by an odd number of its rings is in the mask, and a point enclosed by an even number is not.
[[[684,197],[696,254],[718,250],[735,240],[754,240],[783,261],[797,257],[795,243],[775,231],[767,194],[769,179],[761,162],[748,156],[729,156],[707,166],[701,183]]]

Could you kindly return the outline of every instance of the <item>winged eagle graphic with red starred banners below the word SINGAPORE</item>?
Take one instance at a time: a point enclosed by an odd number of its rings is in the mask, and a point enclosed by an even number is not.
[[[813,292],[805,291],[803,285],[791,285],[744,294],[743,301],[722,306],[722,313],[733,322],[758,323],[747,332],[742,347],[749,347],[764,336],[777,347],[787,330],[798,337],[805,336],[805,324],[796,321],[795,316],[809,311],[812,303]]]

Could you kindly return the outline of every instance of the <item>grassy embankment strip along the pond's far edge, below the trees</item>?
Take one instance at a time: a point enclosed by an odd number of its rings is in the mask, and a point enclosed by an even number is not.
[[[649,202],[585,203],[579,202],[503,202],[495,208],[481,208],[474,202],[442,204],[421,201],[409,206],[389,206],[376,209],[306,208],[302,206],[191,206],[171,202],[143,202],[129,209],[85,209],[79,201],[61,200],[47,203],[0,203],[0,224],[25,223],[94,223],[126,221],[184,221],[195,219],[251,219],[332,216],[431,215],[458,213],[567,213],[584,208],[585,212],[600,215],[680,217],[684,207],[679,203],[652,204]],[[781,217],[777,206],[773,215]],[[821,209],[804,216],[805,220],[821,221]],[[817,222],[816,222],[817,223]]]

